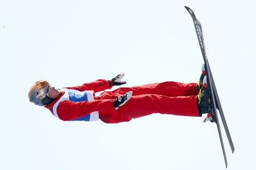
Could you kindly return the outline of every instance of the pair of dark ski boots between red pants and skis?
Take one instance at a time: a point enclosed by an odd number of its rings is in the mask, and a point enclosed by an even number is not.
[[[202,87],[197,95],[197,104],[199,109],[199,114],[207,114],[207,118],[205,118],[204,122],[210,121],[215,122],[216,118],[212,113],[212,99],[210,98],[210,89],[207,83],[207,75],[204,76],[202,81]]]

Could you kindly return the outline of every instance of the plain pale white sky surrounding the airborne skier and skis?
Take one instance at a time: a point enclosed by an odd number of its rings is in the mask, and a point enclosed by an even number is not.
[[[214,124],[153,114],[120,124],[64,122],[28,102],[32,83],[197,82],[205,46],[236,151],[255,169],[256,1],[0,1],[0,169],[225,169]]]

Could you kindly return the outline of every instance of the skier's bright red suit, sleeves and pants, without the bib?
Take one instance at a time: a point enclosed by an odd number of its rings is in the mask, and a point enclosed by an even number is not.
[[[68,87],[74,90],[94,92],[110,89],[108,80],[100,79],[82,86]],[[124,105],[115,110],[113,102],[118,96],[133,91],[133,96]],[[162,82],[143,86],[121,87],[114,91],[102,92],[93,96],[94,101],[61,101],[59,118],[72,120],[86,113],[98,111],[100,120],[105,123],[127,122],[132,118],[152,113],[174,114],[179,116],[200,116],[197,108],[197,83]],[[57,99],[56,99],[57,100]],[[48,109],[55,102],[47,105]]]

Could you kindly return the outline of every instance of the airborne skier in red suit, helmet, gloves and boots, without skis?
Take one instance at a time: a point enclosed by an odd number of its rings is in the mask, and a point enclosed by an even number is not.
[[[199,83],[163,82],[135,87],[121,87],[125,74],[111,80],[99,79],[81,86],[56,89],[47,80],[32,85],[30,101],[49,109],[63,121],[96,121],[113,124],[152,113],[201,117],[211,111],[205,67]],[[100,96],[94,92],[104,91]]]

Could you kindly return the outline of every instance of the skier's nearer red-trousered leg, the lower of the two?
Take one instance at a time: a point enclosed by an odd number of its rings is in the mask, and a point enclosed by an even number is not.
[[[130,121],[132,118],[152,113],[174,114],[178,116],[199,116],[196,96],[168,97],[164,95],[137,95],[112,113],[100,112],[106,123]]]

